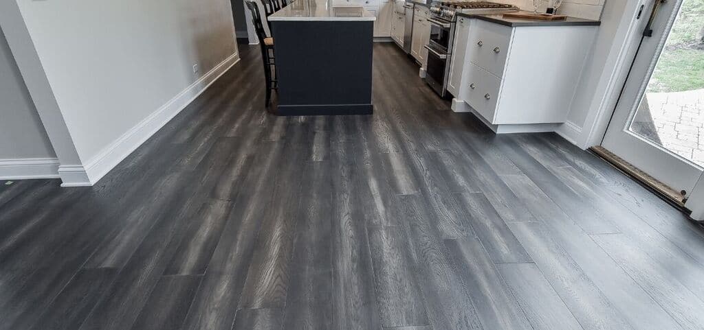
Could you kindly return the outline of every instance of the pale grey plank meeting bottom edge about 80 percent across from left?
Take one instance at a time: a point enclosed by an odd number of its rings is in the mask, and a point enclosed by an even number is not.
[[[534,263],[504,263],[496,267],[518,299],[533,329],[582,330]]]

